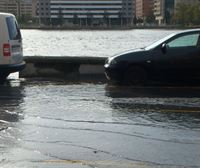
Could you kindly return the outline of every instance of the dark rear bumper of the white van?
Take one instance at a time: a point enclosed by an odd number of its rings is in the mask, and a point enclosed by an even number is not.
[[[25,61],[19,64],[12,64],[12,65],[0,65],[0,73],[10,74],[13,72],[21,71],[25,68],[26,63]]]

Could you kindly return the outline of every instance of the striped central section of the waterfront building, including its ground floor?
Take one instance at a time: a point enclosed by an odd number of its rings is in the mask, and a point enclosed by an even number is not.
[[[52,23],[83,25],[116,21],[121,16],[122,0],[51,0]],[[105,20],[105,21],[104,21]]]

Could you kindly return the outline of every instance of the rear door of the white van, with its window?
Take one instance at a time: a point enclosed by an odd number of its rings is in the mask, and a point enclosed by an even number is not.
[[[6,17],[6,23],[8,27],[9,43],[5,44],[4,47],[9,47],[10,53],[8,53],[8,56],[10,54],[10,64],[17,64],[23,60],[21,32],[15,17]]]

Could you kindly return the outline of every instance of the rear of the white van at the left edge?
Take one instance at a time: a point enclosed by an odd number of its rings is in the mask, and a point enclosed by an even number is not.
[[[0,13],[0,81],[24,67],[22,38],[17,20],[12,14]]]

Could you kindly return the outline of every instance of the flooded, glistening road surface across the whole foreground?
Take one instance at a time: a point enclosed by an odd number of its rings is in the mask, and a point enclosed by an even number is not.
[[[200,167],[200,87],[10,79],[0,167]]]

